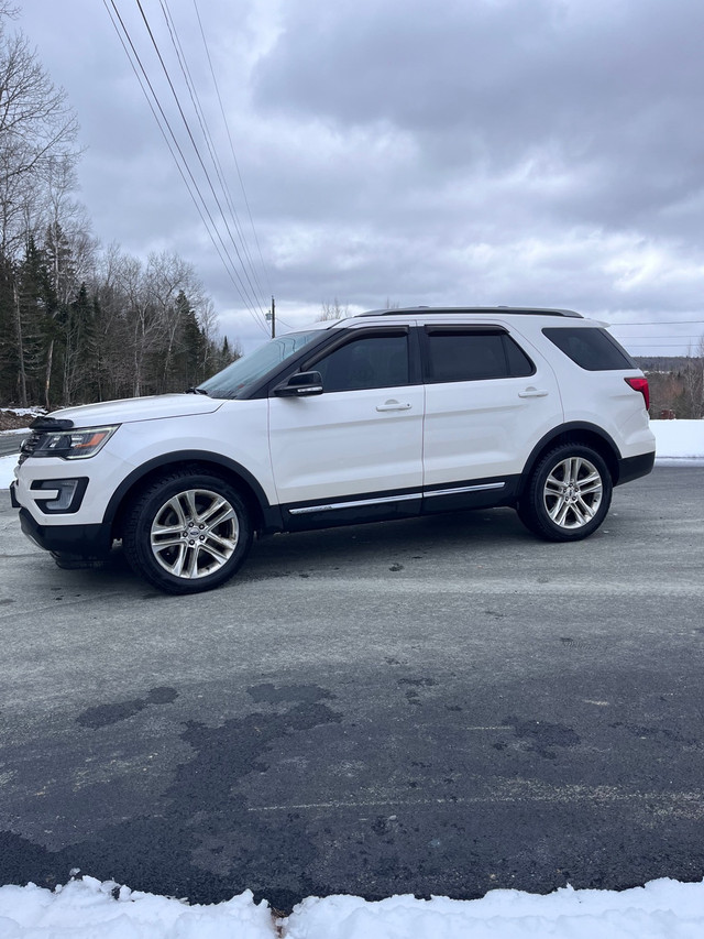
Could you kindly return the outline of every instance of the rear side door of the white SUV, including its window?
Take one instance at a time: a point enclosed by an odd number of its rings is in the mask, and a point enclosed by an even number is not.
[[[561,423],[552,368],[501,326],[432,324],[421,335],[425,507],[440,507],[432,500],[443,492],[466,492],[466,504],[476,504],[486,490],[498,501],[536,443]]]

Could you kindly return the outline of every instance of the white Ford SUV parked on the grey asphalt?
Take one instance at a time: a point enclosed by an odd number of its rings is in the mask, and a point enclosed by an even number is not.
[[[59,565],[217,587],[253,534],[510,505],[571,542],[652,469],[648,383],[571,310],[376,310],[273,339],[190,393],[57,411],[12,483]]]

